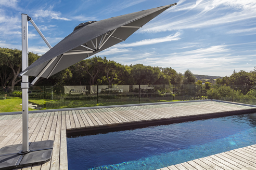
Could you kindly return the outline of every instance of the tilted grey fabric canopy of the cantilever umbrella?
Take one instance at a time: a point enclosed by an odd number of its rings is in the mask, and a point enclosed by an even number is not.
[[[48,78],[81,60],[121,43],[140,27],[175,4],[76,26],[74,31],[20,73]]]

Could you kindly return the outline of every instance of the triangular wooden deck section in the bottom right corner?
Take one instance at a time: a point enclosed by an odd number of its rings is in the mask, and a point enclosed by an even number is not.
[[[250,168],[248,168],[250,167]],[[210,155],[181,164],[163,167],[158,170],[203,170],[203,169],[256,169],[256,145]]]

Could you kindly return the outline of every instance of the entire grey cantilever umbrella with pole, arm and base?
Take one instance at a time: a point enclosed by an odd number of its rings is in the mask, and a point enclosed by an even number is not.
[[[28,135],[28,76],[35,76],[32,85],[40,78],[48,78],[81,60],[121,43],[140,27],[175,4],[152,8],[101,21],[89,21],[75,27],[74,31],[53,48],[28,15],[22,14],[22,145],[0,148],[0,169],[19,168],[42,164],[52,156],[53,140],[29,143]],[[28,67],[28,21],[50,48]]]

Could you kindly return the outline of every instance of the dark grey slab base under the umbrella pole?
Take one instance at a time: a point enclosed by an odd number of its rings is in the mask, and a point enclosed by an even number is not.
[[[29,143],[29,152],[22,153],[22,144],[9,145],[0,149],[0,169],[20,168],[32,164],[43,164],[50,160],[53,140]]]

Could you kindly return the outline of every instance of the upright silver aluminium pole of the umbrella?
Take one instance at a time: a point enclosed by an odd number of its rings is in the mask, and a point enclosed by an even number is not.
[[[22,71],[29,65],[28,62],[28,15],[21,15],[22,27]],[[22,76],[22,152],[29,151],[29,76]]]

